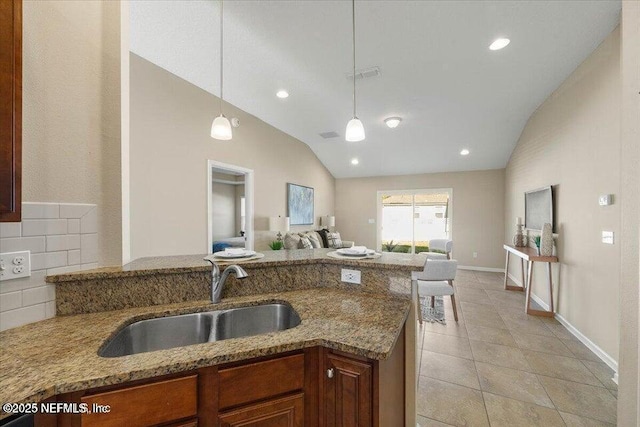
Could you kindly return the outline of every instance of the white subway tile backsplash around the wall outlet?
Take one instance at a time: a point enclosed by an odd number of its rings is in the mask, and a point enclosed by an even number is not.
[[[98,267],[96,205],[25,202],[22,217],[0,224],[0,252],[31,251],[31,277],[0,282],[0,331],[55,316],[48,274]]]

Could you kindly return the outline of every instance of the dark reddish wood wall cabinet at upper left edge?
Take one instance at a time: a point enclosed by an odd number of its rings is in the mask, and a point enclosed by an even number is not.
[[[20,221],[22,0],[0,1],[0,222]]]

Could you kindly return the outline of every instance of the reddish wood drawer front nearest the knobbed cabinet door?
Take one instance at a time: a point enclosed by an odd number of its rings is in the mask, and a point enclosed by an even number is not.
[[[219,372],[220,409],[238,406],[271,396],[302,390],[304,355],[282,357]]]

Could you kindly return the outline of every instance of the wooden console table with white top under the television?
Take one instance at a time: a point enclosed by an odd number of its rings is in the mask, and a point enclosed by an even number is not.
[[[538,255],[538,251],[530,247],[515,247],[512,245],[504,245],[504,249],[507,252],[507,259],[504,266],[504,288],[510,291],[525,291],[527,293],[525,303],[525,313],[533,316],[554,317],[553,310],[553,279],[551,277],[551,264],[558,262],[557,256],[541,256]],[[522,285],[513,286],[507,284],[509,276],[509,255],[513,254],[520,258],[520,265],[522,267]],[[527,277],[524,275],[524,263],[527,262]],[[535,262],[544,262],[547,264],[547,273],[549,280],[549,309],[536,310],[531,308],[531,284],[533,279],[533,264]]]

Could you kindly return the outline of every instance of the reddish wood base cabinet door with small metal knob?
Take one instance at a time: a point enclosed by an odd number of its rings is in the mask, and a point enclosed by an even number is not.
[[[372,366],[335,354],[325,356],[326,427],[372,425]]]

